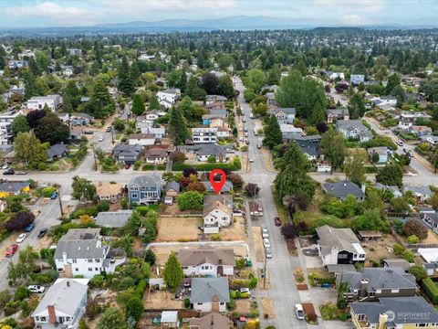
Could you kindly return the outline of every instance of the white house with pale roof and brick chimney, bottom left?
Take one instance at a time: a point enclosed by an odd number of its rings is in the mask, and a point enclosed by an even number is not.
[[[88,279],[57,279],[31,315],[36,327],[77,329],[85,312],[88,282]]]

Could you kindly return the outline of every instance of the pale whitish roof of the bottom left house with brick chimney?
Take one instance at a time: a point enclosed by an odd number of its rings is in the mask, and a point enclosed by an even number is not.
[[[55,306],[56,312],[75,315],[87,294],[88,280],[84,279],[57,279],[47,289],[41,302],[39,302],[32,316],[47,313],[47,306]]]

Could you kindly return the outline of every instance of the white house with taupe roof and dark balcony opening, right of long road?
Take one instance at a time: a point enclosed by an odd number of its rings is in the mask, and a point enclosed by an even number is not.
[[[365,250],[351,228],[332,228],[324,225],[316,228],[316,231],[318,253],[324,266],[365,261]]]

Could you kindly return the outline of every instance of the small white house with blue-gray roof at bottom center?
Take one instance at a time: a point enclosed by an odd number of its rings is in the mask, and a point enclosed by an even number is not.
[[[193,278],[190,302],[198,312],[226,312],[230,290],[226,278]]]

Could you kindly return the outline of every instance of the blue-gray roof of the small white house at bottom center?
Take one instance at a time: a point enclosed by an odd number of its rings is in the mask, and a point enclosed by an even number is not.
[[[228,279],[193,278],[190,302],[230,302]]]

